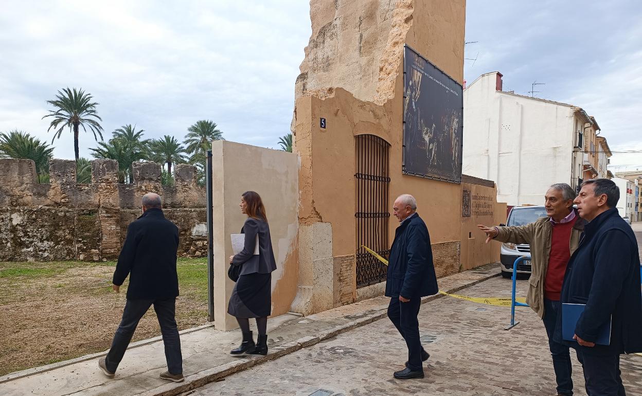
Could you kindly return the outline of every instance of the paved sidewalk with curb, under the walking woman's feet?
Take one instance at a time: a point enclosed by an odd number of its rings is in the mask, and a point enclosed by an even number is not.
[[[497,265],[489,264],[439,279],[439,285],[443,291],[453,293],[497,275]],[[272,318],[268,320],[270,353],[265,357],[229,355],[229,350],[238,346],[238,331],[221,332],[210,326],[183,332],[184,383],[168,383],[159,378],[166,370],[163,345],[160,340],[152,340],[130,347],[114,379],[108,379],[98,369],[98,356],[104,354],[96,354],[1,377],[0,394],[177,395],[372,323],[385,317],[387,307],[388,298],[377,297],[304,318],[295,314]]]

